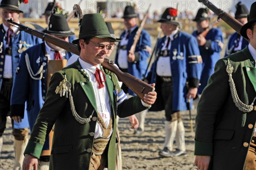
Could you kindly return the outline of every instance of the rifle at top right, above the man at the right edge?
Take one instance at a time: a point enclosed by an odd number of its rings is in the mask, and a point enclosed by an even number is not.
[[[205,6],[207,6],[207,8],[209,8],[210,10],[212,10],[212,12],[214,12],[216,15],[218,15],[218,19],[217,19],[218,21],[221,18],[230,27],[232,27],[237,33],[240,34],[240,30],[241,30],[241,27],[243,26],[243,24],[241,24],[238,20],[233,18],[227,12],[224,12],[222,9],[219,9],[218,7],[216,7],[212,2],[210,2],[208,0],[198,0],[198,2],[203,3]],[[246,39],[246,40],[248,40],[248,39]]]

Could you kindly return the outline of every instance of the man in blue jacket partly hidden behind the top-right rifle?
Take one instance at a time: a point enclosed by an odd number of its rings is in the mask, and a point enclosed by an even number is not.
[[[241,4],[241,2],[236,4],[236,20],[238,20],[241,24],[244,25],[247,23],[248,14],[249,11],[244,4]],[[244,39],[239,33],[234,32],[232,35],[230,35],[225,56],[230,55],[234,52],[239,52],[241,49],[244,49],[247,45],[248,41]]]

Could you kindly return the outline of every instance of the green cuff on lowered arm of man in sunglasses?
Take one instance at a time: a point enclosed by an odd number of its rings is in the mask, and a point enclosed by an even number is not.
[[[33,141],[28,141],[28,144],[26,146],[26,149],[24,151],[24,156],[25,155],[31,155],[35,156],[36,158],[40,158],[41,152],[43,149],[43,145],[35,143]]]

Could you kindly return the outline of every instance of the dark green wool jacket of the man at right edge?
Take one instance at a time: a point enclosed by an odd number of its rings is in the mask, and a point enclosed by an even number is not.
[[[243,170],[256,122],[251,112],[240,111],[231,96],[227,60],[239,99],[247,105],[256,97],[255,60],[248,46],[219,60],[197,107],[195,155],[212,156],[209,170]]]

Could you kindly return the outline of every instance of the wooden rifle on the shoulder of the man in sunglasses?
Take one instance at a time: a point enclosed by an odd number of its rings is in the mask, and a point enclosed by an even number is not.
[[[34,35],[35,37],[41,38],[43,41],[47,41],[49,43],[54,44],[55,46],[59,46],[62,49],[65,49],[73,54],[80,55],[77,45],[73,43],[69,43],[65,40],[60,38],[54,37],[52,35],[46,34],[44,32],[40,32],[37,30],[33,30],[27,26],[23,26],[21,24],[15,23],[12,19],[7,20],[9,23],[12,23],[16,26],[19,26],[20,31],[24,31],[29,33],[30,35]],[[115,73],[119,81],[125,83],[135,94],[144,101],[144,95],[148,92],[154,92],[154,87],[141,81],[138,78],[135,78],[133,75],[129,73],[124,73],[120,69],[117,69],[116,66],[113,65],[114,62],[105,58],[104,62],[101,65],[105,68],[110,70],[111,72]]]

